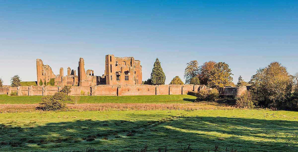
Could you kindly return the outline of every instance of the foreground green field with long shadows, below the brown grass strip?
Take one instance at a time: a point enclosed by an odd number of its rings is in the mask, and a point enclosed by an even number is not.
[[[0,114],[0,151],[298,151],[298,112],[69,111]],[[131,133],[131,134],[130,134]],[[132,135],[132,136],[129,136]],[[12,147],[16,146],[16,147]]]

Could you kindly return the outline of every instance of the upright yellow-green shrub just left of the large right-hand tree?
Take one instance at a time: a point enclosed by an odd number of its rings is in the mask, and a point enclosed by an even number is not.
[[[239,108],[254,108],[254,102],[250,91],[245,91],[236,98],[236,106]]]

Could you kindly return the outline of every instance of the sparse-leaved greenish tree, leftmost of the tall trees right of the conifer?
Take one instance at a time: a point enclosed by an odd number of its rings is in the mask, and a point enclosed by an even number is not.
[[[184,70],[184,79],[186,84],[190,84],[190,80],[193,77],[197,77],[199,73],[198,61],[190,61],[186,64],[186,68]]]

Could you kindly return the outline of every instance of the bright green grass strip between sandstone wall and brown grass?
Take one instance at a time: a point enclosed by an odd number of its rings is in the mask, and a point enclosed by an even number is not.
[[[0,104],[39,103],[42,96],[0,95]],[[78,103],[190,103],[195,100],[190,95],[150,95],[150,96],[80,96]]]

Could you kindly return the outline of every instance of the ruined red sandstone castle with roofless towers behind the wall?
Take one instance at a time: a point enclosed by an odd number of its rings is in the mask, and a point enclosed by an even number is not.
[[[37,85],[45,86],[54,82],[55,86],[97,86],[97,85],[126,85],[142,84],[142,66],[134,57],[119,58],[114,55],[105,56],[105,72],[102,76],[94,76],[94,71],[85,71],[83,58],[79,60],[77,71],[67,68],[67,75],[63,75],[60,68],[59,75],[52,72],[49,65],[44,65],[41,59],[36,59]]]

